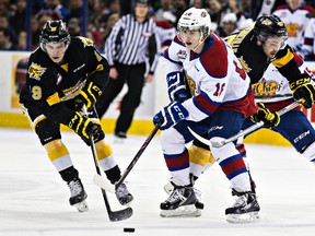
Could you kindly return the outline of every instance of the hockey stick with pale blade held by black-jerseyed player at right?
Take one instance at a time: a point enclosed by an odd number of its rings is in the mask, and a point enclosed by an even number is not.
[[[294,109],[295,107],[298,107],[300,105],[299,102],[294,102],[288,106],[285,106],[284,108],[282,108],[281,110],[279,110],[279,115],[282,116],[283,114]],[[252,133],[254,132],[255,130],[261,128],[264,126],[264,121],[259,121],[250,127],[248,127],[247,129],[238,132],[237,134],[229,138],[229,139],[225,139],[225,140],[222,140],[220,142],[210,142],[210,140],[208,139],[205,139],[202,138],[201,135],[199,135],[198,133],[196,133],[194,130],[191,130],[189,127],[188,127],[188,130],[191,132],[191,134],[198,139],[200,142],[205,143],[206,145],[209,145],[209,146],[213,146],[213,148],[221,148],[223,145],[225,145],[226,143],[230,143],[230,142],[233,142],[235,140],[237,140],[240,137],[243,137],[243,135],[246,135],[248,133]]]

